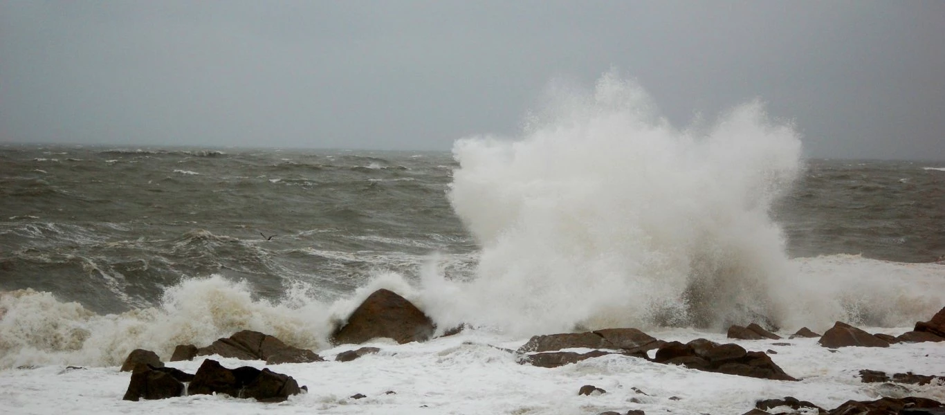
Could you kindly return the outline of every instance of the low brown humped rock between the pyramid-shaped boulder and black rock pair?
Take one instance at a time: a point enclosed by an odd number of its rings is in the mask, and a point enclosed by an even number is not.
[[[266,360],[266,364],[270,365],[324,361],[315,352],[289,346],[276,337],[251,330],[243,330],[229,338],[217,339],[210,346],[199,348],[197,354],[219,354],[242,360]]]

